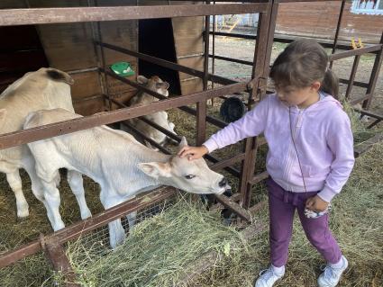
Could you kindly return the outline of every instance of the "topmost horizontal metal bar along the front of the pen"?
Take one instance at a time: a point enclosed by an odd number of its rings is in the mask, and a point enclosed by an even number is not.
[[[253,3],[2,9],[0,26],[258,13],[266,8],[267,4]]]

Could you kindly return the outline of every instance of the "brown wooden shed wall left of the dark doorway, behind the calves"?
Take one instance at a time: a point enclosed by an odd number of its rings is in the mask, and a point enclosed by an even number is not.
[[[87,0],[29,0],[31,7],[87,6]],[[99,5],[135,4],[133,0],[100,0]],[[137,22],[118,21],[101,22],[100,30],[103,41],[128,49],[137,49]],[[63,24],[38,25],[41,44],[50,63],[64,71],[97,67],[101,61],[99,49],[93,40],[97,35],[96,23],[78,22]],[[97,56],[98,53],[98,56]],[[128,61],[134,70],[137,59],[122,53],[105,49],[105,62],[109,66],[117,61]],[[72,75],[75,85],[72,87],[72,99],[76,112],[88,115],[102,112],[105,102],[102,94],[101,79],[96,71]],[[131,79],[135,79],[132,76]],[[132,96],[134,89],[120,81],[108,78],[109,93],[115,98],[125,100]]]

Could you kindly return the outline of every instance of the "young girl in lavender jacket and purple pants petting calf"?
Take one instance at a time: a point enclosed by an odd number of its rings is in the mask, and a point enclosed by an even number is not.
[[[338,80],[314,40],[296,40],[278,56],[270,77],[276,87],[242,119],[180,157],[203,157],[216,148],[264,133],[269,144],[269,242],[271,265],[256,287],[273,286],[285,274],[295,211],[305,235],[328,265],[318,285],[336,286],[348,262],[328,226],[327,209],[354,164],[350,120],[334,97]]]

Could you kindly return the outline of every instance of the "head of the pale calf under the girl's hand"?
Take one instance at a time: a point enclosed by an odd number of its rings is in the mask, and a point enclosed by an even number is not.
[[[185,138],[180,148],[187,145]],[[146,175],[156,178],[161,184],[167,184],[188,193],[222,194],[228,184],[223,175],[215,173],[206,165],[203,158],[189,161],[187,157],[170,157],[165,163],[150,162],[138,165]]]

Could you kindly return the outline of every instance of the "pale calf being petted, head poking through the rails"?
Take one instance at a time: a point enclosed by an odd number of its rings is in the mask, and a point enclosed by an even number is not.
[[[32,112],[24,128],[78,117],[81,116],[62,109]],[[183,139],[180,145],[186,144],[186,139]],[[145,147],[132,135],[106,126],[42,139],[28,146],[43,184],[40,198],[45,199],[54,230],[64,227],[59,215],[59,190],[54,182],[61,167],[87,175],[100,184],[100,200],[105,209],[163,184],[189,193],[216,194],[222,194],[227,185],[223,175],[212,171],[204,159],[188,161],[187,158],[164,155]],[[80,198],[80,209],[85,209],[84,190],[78,188],[75,193]],[[130,227],[134,218],[135,214],[128,217]],[[121,220],[109,223],[109,234],[111,247],[123,241],[125,233]]]

